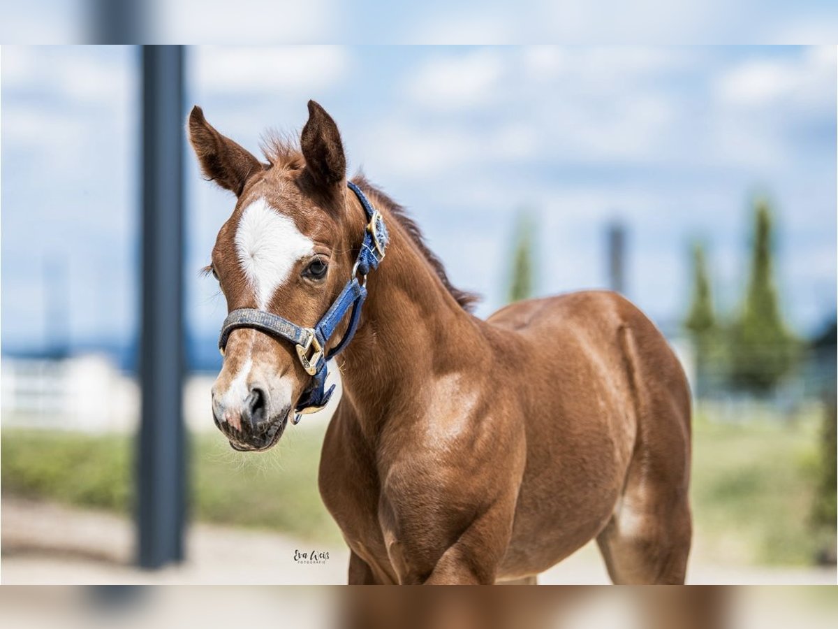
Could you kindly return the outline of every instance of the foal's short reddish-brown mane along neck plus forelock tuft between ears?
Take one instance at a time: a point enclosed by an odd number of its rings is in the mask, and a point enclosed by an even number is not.
[[[303,169],[303,166],[305,165],[303,153],[301,153],[298,148],[296,138],[290,134],[281,134],[277,132],[269,133],[265,138],[263,138],[261,149],[262,153],[265,155],[265,159],[267,159],[268,163],[272,167],[287,170],[300,170]],[[448,293],[451,294],[451,296],[464,310],[471,312],[474,308],[474,304],[476,304],[478,299],[480,299],[478,294],[457,289],[452,285],[451,280],[448,279],[445,267],[442,266],[442,261],[440,261],[434,252],[427,247],[425,237],[422,235],[422,230],[420,230],[419,226],[416,225],[416,221],[408,216],[405,208],[396,203],[396,201],[392,200],[388,195],[385,195],[385,193],[375,187],[375,185],[370,184],[363,174],[356,175],[352,181],[355,185],[358,185],[361,190],[370,192],[375,195],[381,203],[386,205],[392,216],[396,218],[396,221],[398,221],[402,228],[406,231],[407,236],[411,238],[419,251],[422,252],[422,255],[427,260],[427,263],[430,264],[434,272],[437,273],[437,277],[442,281],[442,285]]]

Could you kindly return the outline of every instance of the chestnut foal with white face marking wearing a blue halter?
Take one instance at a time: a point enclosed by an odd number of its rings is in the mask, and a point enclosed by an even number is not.
[[[690,395],[660,331],[601,291],[478,320],[308,112],[300,148],[273,141],[267,164],[189,117],[204,174],[237,197],[209,267],[230,310],[212,392],[230,444],[265,450],[322,408],[339,349],[319,486],[349,583],[535,582],[592,538],[615,583],[683,583]]]

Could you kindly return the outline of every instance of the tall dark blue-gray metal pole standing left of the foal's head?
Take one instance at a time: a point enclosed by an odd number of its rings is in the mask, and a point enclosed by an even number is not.
[[[138,563],[184,558],[184,52],[142,46]]]

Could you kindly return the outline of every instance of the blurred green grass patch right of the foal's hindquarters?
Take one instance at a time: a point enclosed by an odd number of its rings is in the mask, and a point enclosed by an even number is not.
[[[817,420],[693,424],[696,547],[720,564],[811,564]]]

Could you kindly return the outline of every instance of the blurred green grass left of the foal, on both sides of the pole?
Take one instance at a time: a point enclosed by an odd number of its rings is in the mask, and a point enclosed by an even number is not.
[[[292,429],[268,453],[246,455],[231,450],[220,434],[191,435],[191,517],[339,543],[318,492],[322,441],[317,429]],[[0,445],[4,495],[131,512],[134,453],[128,435],[3,429]]]

